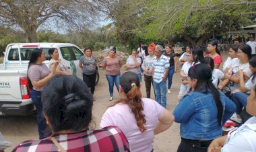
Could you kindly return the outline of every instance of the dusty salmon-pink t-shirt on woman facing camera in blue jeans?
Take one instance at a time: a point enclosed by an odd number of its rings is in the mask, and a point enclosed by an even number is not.
[[[121,62],[122,59],[119,56],[115,56],[114,59],[105,57],[102,64],[106,65],[106,75],[119,75]]]

